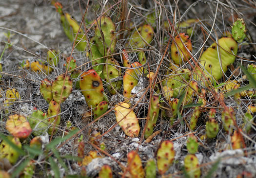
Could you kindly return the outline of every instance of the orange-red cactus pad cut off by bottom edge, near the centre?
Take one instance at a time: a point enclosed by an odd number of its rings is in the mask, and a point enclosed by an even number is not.
[[[140,157],[136,151],[130,151],[127,154],[127,167],[132,178],[144,178],[145,172],[142,167]]]

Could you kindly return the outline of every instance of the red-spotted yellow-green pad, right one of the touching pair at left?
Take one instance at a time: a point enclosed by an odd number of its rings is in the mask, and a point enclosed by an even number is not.
[[[63,88],[63,92],[61,95],[61,90]],[[52,83],[52,92],[53,92],[53,99],[58,103],[63,103],[70,93],[72,92],[73,82],[70,76],[66,76],[65,74],[59,75],[55,81]]]

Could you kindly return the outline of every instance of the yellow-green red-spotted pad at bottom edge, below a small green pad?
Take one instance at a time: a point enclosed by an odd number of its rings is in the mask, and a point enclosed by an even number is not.
[[[190,178],[200,178],[201,171],[196,155],[187,155],[184,159],[184,167]]]

